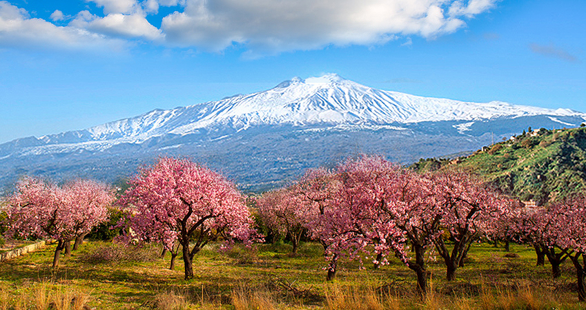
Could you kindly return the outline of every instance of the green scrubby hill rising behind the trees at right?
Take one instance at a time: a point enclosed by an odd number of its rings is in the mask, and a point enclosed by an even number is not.
[[[446,166],[486,178],[505,194],[538,205],[586,189],[586,127],[529,130],[455,160],[422,159],[418,171]]]

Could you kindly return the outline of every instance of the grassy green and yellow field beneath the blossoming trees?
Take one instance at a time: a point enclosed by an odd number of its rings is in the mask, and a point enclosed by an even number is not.
[[[183,280],[182,260],[168,269],[159,247],[86,242],[61,267],[50,265],[55,245],[0,263],[0,309],[586,309],[577,301],[574,270],[551,279],[535,266],[531,248],[474,245],[457,280],[445,280],[441,262],[429,261],[431,293],[420,298],[416,278],[398,260],[373,270],[368,260],[344,262],[325,281],[320,245],[256,245],[202,250],[195,278]]]

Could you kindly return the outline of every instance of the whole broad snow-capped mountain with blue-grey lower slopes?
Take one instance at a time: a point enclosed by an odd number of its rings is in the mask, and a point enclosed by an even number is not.
[[[358,152],[410,163],[473,151],[529,126],[574,127],[584,121],[586,114],[567,109],[413,96],[326,74],[4,143],[0,185],[10,187],[23,175],[114,182],[157,156],[189,156],[258,191]]]

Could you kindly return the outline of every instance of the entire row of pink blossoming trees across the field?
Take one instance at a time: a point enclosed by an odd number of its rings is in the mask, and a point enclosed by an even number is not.
[[[375,265],[395,256],[428,290],[426,256],[434,250],[453,280],[467,251],[480,238],[527,242],[538,263],[548,258],[554,277],[569,258],[576,269],[578,298],[586,299],[586,198],[576,195],[543,208],[526,208],[458,170],[419,174],[362,155],[335,169],[311,169],[293,184],[253,198],[263,225],[289,237],[293,251],[302,236],[320,242],[329,259],[327,278],[340,260],[366,257]],[[193,278],[193,257],[208,242],[262,241],[246,199],[224,176],[189,161],[161,158],[142,169],[125,194],[89,180],[64,186],[25,178],[6,209],[9,234],[58,240],[53,266],[70,241],[107,218],[117,203],[127,216],[119,223],[124,242],[159,242],[181,251],[184,276]],[[76,244],[78,242],[75,242]]]

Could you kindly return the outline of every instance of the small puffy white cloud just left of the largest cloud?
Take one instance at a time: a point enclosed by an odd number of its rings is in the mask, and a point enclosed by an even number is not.
[[[82,11],[70,25],[105,34],[108,37],[141,38],[148,41],[160,41],[164,38],[161,30],[148,23],[144,16],[138,14],[113,13],[106,15],[106,17],[97,17],[88,11]]]

